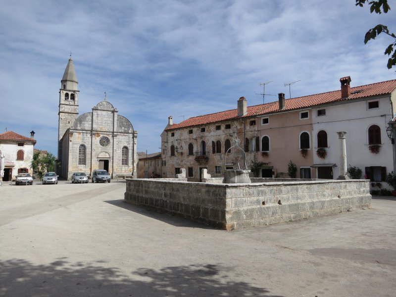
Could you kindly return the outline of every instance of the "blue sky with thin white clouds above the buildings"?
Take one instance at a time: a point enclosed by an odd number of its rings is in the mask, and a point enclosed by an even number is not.
[[[189,117],[396,79],[377,24],[396,32],[396,0],[370,14],[355,0],[5,0],[0,9],[0,133],[56,156],[60,80],[70,52],[79,113],[104,99],[160,151],[168,116]],[[297,82],[296,82],[297,81]],[[285,84],[295,84],[289,87]],[[274,96],[270,96],[274,95]]]

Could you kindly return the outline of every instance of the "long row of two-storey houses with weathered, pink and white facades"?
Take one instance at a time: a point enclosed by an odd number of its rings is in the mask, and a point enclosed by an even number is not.
[[[393,170],[388,123],[396,113],[396,80],[351,88],[350,77],[340,79],[336,91],[247,106],[189,118],[161,134],[162,177],[175,177],[180,168],[199,181],[202,169],[212,177],[225,169],[250,168],[260,163],[259,177],[288,177],[288,163],[297,178],[336,179],[340,172],[340,140],[346,131],[347,164],[362,169],[376,187],[389,188],[385,176]],[[245,154],[232,148],[234,135]],[[362,176],[363,177],[363,176]],[[375,183],[374,183],[375,182]]]

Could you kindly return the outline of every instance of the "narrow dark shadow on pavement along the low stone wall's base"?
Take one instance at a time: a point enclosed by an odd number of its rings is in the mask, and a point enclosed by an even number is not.
[[[117,200],[105,200],[109,204],[133,211],[140,215],[147,216],[149,218],[173,225],[175,227],[189,227],[189,228],[200,228],[200,229],[215,229],[210,226],[205,226],[198,222],[190,221],[189,219],[183,218],[181,215],[173,215],[165,212],[156,212],[141,206],[133,205],[124,201],[124,199]]]

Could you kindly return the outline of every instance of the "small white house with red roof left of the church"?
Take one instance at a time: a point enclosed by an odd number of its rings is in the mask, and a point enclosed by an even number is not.
[[[3,181],[15,179],[18,173],[26,172],[33,176],[32,160],[33,150],[36,140],[17,134],[13,131],[7,131],[0,134],[0,153],[4,153],[5,167]]]

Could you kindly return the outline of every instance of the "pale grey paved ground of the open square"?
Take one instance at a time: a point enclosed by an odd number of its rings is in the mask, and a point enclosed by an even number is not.
[[[236,231],[123,202],[125,183],[0,187],[0,296],[389,296],[396,200]]]

